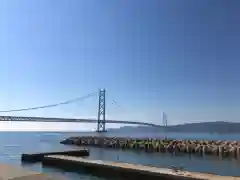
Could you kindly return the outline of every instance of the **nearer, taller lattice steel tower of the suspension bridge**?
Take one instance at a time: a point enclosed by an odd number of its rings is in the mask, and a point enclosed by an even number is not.
[[[105,120],[105,93],[106,90],[99,90],[99,102],[98,102],[98,124],[97,124],[97,132],[106,132],[106,120]]]

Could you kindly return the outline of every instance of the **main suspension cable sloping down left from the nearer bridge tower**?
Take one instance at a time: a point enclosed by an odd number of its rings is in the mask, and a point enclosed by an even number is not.
[[[73,102],[77,102],[77,101],[82,101],[84,99],[87,99],[89,97],[92,97],[94,95],[96,95],[97,93],[90,93],[88,95],[82,96],[80,98],[75,98],[72,100],[68,100],[68,101],[64,101],[64,102],[60,102],[57,104],[50,104],[50,105],[44,105],[44,106],[36,106],[36,107],[30,107],[30,108],[23,108],[23,109],[11,109],[11,110],[4,110],[4,111],[0,111],[0,113],[5,113],[5,112],[17,112],[17,111],[30,111],[30,110],[36,110],[36,109],[44,109],[44,108],[51,108],[51,107],[55,107],[55,106],[59,106],[59,105],[64,105],[64,104],[70,104]]]

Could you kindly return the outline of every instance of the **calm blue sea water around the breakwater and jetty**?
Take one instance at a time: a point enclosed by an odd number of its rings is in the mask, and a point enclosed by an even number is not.
[[[77,174],[65,172],[59,169],[42,167],[38,164],[21,164],[21,154],[27,152],[46,152],[67,149],[78,149],[76,146],[62,145],[59,142],[69,136],[76,135],[98,135],[94,132],[0,132],[0,161],[14,165],[21,165],[28,169],[57,173],[69,179],[76,180],[100,180],[104,178],[95,177],[90,174]],[[132,137],[164,137],[166,134],[151,133],[106,133],[105,136],[132,136]],[[240,134],[190,134],[190,133],[168,133],[169,138],[176,139],[213,139],[213,140],[240,140]],[[218,157],[181,155],[172,156],[171,154],[121,151],[114,149],[103,150],[100,148],[90,148],[91,159],[103,159],[112,161],[125,161],[158,167],[179,166],[188,171],[211,172],[219,175],[240,176],[240,160],[219,159]],[[117,157],[119,158],[117,160]]]

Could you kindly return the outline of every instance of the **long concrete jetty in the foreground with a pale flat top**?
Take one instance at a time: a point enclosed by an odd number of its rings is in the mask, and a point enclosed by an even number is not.
[[[65,155],[48,155],[42,159],[45,166],[58,167],[75,172],[90,172],[107,177],[122,177],[132,180],[240,180],[240,177],[218,176],[207,173],[182,171],[179,169],[167,169],[129,164],[123,162],[110,162],[102,160],[90,160],[81,157]]]

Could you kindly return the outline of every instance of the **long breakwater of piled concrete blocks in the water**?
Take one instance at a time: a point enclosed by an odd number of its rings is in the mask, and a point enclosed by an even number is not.
[[[82,136],[70,137],[63,140],[61,143],[78,146],[144,150],[146,152],[209,154],[220,157],[240,157],[240,141],[170,140],[149,138],[137,139]]]

